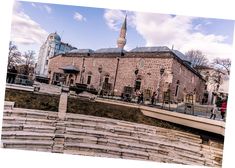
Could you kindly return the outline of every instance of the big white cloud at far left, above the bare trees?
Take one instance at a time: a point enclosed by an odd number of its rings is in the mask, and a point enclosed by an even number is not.
[[[14,5],[11,40],[23,45],[41,45],[48,35],[41,26],[21,10],[20,3]]]

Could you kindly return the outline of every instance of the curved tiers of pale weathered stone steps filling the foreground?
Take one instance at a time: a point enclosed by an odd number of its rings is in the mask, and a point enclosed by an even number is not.
[[[221,167],[221,148],[199,135],[120,120],[7,108],[4,148]]]

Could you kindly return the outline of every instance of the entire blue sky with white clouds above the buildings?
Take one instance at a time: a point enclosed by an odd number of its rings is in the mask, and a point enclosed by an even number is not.
[[[11,39],[24,52],[35,50],[51,32],[77,48],[116,47],[127,13],[126,50],[140,46],[168,46],[186,52],[202,50],[209,59],[231,57],[234,21],[101,8],[17,2]],[[75,19],[75,15],[77,18]],[[24,26],[25,25],[25,26]]]

